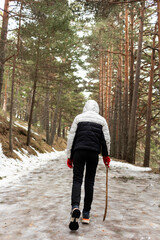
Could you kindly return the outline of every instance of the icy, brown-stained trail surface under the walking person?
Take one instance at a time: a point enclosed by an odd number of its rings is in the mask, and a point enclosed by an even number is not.
[[[129,165],[111,163],[108,214],[105,167],[99,161],[92,218],[77,232],[68,228],[72,170],[66,153],[0,188],[0,240],[158,240],[160,239],[160,176]],[[83,204],[83,186],[82,200]]]

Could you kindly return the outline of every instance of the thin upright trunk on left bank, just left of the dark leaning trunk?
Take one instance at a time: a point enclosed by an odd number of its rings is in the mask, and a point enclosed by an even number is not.
[[[12,88],[11,88],[11,106],[10,106],[10,122],[9,122],[9,149],[13,152],[13,108],[14,108],[14,83],[15,83],[15,68],[16,68],[16,55],[13,58],[12,70]]]

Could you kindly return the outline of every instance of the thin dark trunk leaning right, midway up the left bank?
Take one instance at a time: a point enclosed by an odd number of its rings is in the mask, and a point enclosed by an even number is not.
[[[36,87],[37,87],[37,80],[38,80],[38,63],[39,63],[39,43],[38,43],[36,64],[35,64],[32,102],[31,102],[31,108],[30,108],[30,114],[29,114],[29,120],[28,120],[27,146],[30,145],[31,124],[32,124],[33,108],[34,108],[34,103],[35,103]]]

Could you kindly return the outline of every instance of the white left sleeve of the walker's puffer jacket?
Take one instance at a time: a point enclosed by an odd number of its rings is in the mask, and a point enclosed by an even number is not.
[[[67,139],[67,158],[71,158],[71,150],[72,150],[73,141],[76,135],[76,130],[77,130],[77,122],[75,118],[72,123],[71,129],[68,135],[68,139]]]

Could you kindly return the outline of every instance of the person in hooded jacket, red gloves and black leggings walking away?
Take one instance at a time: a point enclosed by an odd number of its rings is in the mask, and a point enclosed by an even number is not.
[[[73,167],[71,195],[71,220],[69,228],[77,230],[81,212],[81,185],[85,171],[85,197],[82,211],[82,223],[89,223],[93,200],[93,188],[99,154],[102,153],[105,165],[110,163],[110,134],[105,118],[99,115],[96,101],[88,100],[83,113],[75,117],[67,139],[67,165]]]

